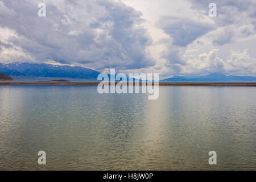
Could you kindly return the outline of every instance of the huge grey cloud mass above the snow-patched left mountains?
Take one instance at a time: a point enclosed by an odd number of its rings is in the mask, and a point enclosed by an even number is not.
[[[152,39],[139,11],[108,0],[40,2],[46,3],[46,17],[37,15],[39,1],[0,1],[1,27],[15,34],[4,40],[21,49],[28,60],[77,63],[98,70],[155,64],[147,51]],[[0,58],[11,61],[2,54]]]

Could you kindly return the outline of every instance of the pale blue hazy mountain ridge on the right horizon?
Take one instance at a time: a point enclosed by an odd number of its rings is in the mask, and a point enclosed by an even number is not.
[[[205,76],[174,76],[171,78],[166,78],[161,81],[171,81],[171,82],[256,82],[256,77],[254,76],[226,76],[224,74],[212,73]]]

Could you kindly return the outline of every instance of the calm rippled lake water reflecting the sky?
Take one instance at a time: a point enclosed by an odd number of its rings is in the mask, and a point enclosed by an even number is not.
[[[256,170],[256,88],[0,86],[0,169]]]

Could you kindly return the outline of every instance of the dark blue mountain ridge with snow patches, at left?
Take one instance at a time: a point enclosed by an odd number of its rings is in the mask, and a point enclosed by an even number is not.
[[[100,72],[89,68],[71,67],[68,65],[30,64],[30,63],[0,63],[0,73],[10,76],[24,77],[67,77],[67,78],[97,78]]]

